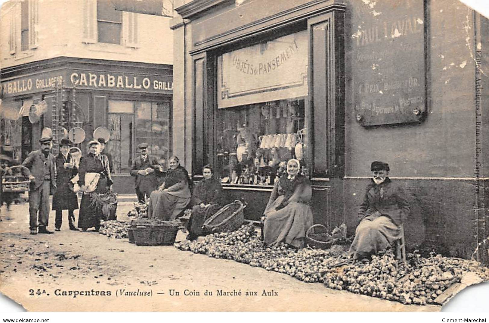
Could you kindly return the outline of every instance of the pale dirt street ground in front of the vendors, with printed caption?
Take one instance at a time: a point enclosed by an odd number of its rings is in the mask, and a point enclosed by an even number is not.
[[[128,219],[132,207],[119,202],[118,219]],[[70,231],[67,211],[62,231],[29,235],[27,204],[1,208],[0,290],[28,311],[441,310],[332,290],[173,246]],[[54,211],[48,229],[54,231]],[[179,232],[177,241],[184,238]]]

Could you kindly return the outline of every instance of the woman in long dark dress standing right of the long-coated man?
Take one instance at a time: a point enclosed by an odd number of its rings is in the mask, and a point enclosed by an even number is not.
[[[107,157],[100,155],[99,152],[100,143],[96,140],[89,142],[89,154],[80,160],[80,168],[78,174],[80,180],[78,185],[80,189],[84,191],[82,201],[80,203],[80,214],[78,215],[78,228],[82,231],[87,231],[88,228],[95,227],[98,231],[100,228],[100,221],[103,219],[102,206],[93,205],[90,194],[87,192],[89,183],[85,182],[85,175],[87,173],[97,173],[100,175],[97,186],[94,193],[104,194],[111,189],[112,180],[111,172],[109,169],[109,162]]]

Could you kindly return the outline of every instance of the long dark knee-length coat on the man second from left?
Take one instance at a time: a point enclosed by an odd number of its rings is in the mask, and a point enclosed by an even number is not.
[[[53,195],[53,210],[74,210],[78,208],[78,198],[69,186],[70,180],[78,173],[78,168],[65,168],[64,166],[65,162],[70,161],[70,154],[67,155],[67,158],[62,153],[56,157],[57,189]]]

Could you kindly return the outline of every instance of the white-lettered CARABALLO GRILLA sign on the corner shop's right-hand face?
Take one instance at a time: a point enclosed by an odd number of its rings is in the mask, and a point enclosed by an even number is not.
[[[134,75],[129,73],[101,73],[91,71],[72,71],[68,86],[90,89],[114,89],[143,92],[172,92],[171,78],[159,76]]]

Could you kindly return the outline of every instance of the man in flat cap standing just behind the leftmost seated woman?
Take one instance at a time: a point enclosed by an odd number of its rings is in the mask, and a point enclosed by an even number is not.
[[[155,156],[148,155],[146,142],[140,143],[137,148],[140,156],[133,161],[131,175],[135,176],[134,187],[137,199],[139,203],[144,203],[145,197],[149,198],[151,192],[157,188],[155,168],[158,167],[158,161]]]

